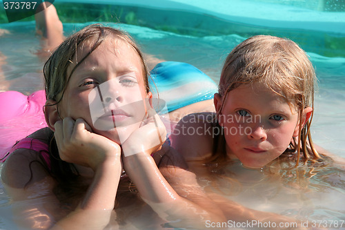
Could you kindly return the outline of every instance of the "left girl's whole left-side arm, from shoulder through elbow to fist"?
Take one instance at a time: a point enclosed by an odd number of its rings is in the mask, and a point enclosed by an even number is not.
[[[39,153],[19,148],[10,155],[1,175],[14,200],[19,224],[30,229],[103,229],[115,204],[121,175],[120,148],[106,137],[88,132],[81,119],[64,119],[55,127],[61,158],[89,166],[95,174],[86,195],[77,200],[77,208],[66,211],[53,193],[57,182],[37,162]]]

